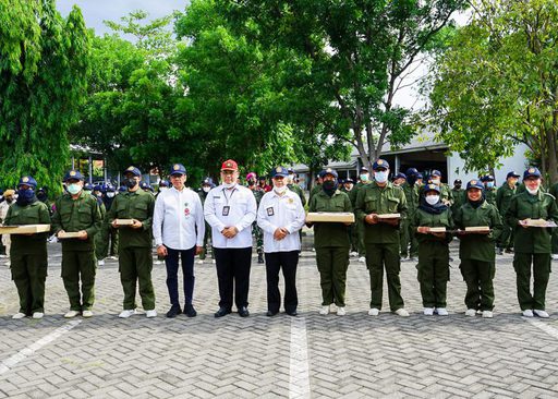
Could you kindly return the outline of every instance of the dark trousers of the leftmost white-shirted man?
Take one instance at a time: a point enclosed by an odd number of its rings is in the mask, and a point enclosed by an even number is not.
[[[170,303],[172,306],[180,306],[179,300],[179,257],[182,258],[182,277],[184,283],[184,306],[192,304],[194,292],[194,256],[196,247],[190,250],[172,250],[167,247],[168,255],[165,257],[167,266],[167,288],[169,289]]]

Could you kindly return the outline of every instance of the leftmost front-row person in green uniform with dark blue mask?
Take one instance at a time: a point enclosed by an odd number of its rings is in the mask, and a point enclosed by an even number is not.
[[[17,200],[8,209],[5,226],[50,225],[47,205],[37,200],[37,181],[24,176],[17,184]],[[49,232],[11,234],[10,262],[12,280],[20,297],[20,312],[12,318],[43,318],[47,279],[47,239]]]

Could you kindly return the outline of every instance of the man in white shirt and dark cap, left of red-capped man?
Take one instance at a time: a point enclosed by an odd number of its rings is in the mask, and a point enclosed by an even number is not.
[[[202,252],[205,233],[204,209],[199,196],[186,189],[186,168],[174,164],[170,170],[172,188],[161,191],[155,202],[153,235],[157,254],[165,257],[167,288],[171,307],[167,317],[177,317],[182,310],[179,301],[179,257],[184,278],[184,314],[195,317],[192,305],[194,292],[194,256]]]

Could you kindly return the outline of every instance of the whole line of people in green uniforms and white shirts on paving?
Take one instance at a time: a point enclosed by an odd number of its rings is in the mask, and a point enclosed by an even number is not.
[[[185,167],[174,164],[169,171],[170,188],[156,197],[142,189],[142,173],[137,168],[131,166],[123,176],[125,191],[111,196],[109,209],[84,190],[84,178],[76,170],[65,174],[66,192],[56,201],[52,216],[37,200],[37,182],[29,176],[20,180],[17,198],[7,209],[4,225],[51,225],[51,232],[62,242],[61,276],[70,302],[64,317],[93,316],[98,264],[96,237],[107,231],[118,231],[119,273],[124,292],[119,317],[137,313],[137,288],[146,316],[157,316],[151,282],[154,240],[157,255],[165,259],[167,269],[170,298],[167,317],[181,313],[195,317],[194,258],[206,255],[209,235],[220,297],[215,317],[232,313],[233,305],[241,317],[248,316],[253,233],[258,258],[266,267],[267,316],[277,315],[281,305],[288,315],[295,316],[299,305],[296,268],[304,225],[314,228],[323,297],[319,313],[323,315],[347,314],[345,285],[351,249],[359,251],[368,269],[371,316],[381,311],[384,275],[390,311],[409,316],[399,277],[401,259],[407,253],[410,257],[417,256],[424,314],[448,315],[449,243],[457,237],[460,269],[468,286],[465,315],[493,317],[495,245],[511,249],[502,239],[509,228],[508,237],[514,240],[513,267],[522,314],[548,317],[545,294],[550,273],[551,228],[535,227],[530,220],[558,221],[558,208],[556,198],[542,190],[542,176],[536,168],[523,173],[522,191],[514,190],[512,195],[505,192],[500,195],[498,191],[495,195],[495,201],[507,202],[504,214],[501,207],[498,210],[490,204],[487,186],[480,180],[472,180],[465,190],[452,193],[441,184],[438,171],[424,179],[424,184],[421,173],[411,168],[390,181],[388,161],[378,159],[373,165],[373,177],[363,170],[356,185],[345,181],[340,189],[338,173],[330,168],[323,170],[319,184],[311,192],[307,210],[354,213],[355,225],[307,222],[306,198],[293,184],[292,172],[284,167],[271,171],[272,185],[248,176],[248,184],[243,186],[239,183],[238,164],[229,159],[221,166],[221,184],[216,186],[206,179],[202,192],[196,193],[186,186]],[[517,174],[510,172],[510,177]],[[44,316],[48,237],[49,232],[11,237],[12,279],[20,295],[20,311],[13,318]],[[178,281],[180,264],[182,303]],[[530,291],[532,271],[533,293]],[[280,273],[286,287],[282,301]]]

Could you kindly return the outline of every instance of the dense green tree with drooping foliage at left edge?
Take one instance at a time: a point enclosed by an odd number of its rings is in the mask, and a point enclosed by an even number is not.
[[[53,0],[1,0],[0,19],[0,184],[32,174],[58,193],[89,75],[84,20]]]

